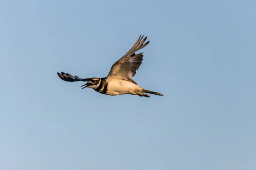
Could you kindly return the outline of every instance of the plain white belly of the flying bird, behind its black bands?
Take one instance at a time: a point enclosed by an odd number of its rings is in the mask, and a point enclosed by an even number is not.
[[[125,80],[108,82],[108,95],[120,95],[120,94],[136,94],[134,91],[141,93],[143,88],[135,85],[132,82]]]

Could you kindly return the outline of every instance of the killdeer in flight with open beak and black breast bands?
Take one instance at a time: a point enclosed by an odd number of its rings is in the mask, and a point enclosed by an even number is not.
[[[137,82],[134,82],[134,80],[131,79],[135,76],[136,70],[138,70],[143,60],[143,53],[135,54],[135,52],[148,45],[149,41],[145,42],[146,39],[147,37],[143,39],[143,36],[140,36],[133,47],[121,59],[112,65],[107,77],[81,79],[80,77],[73,77],[70,74],[64,72],[57,74],[61,79],[67,82],[87,82],[81,87],[92,88],[101,94],[107,94],[111,96],[133,94],[145,97],[150,97],[148,94],[155,94],[158,96],[163,96],[163,94],[145,90],[144,88],[138,86]]]

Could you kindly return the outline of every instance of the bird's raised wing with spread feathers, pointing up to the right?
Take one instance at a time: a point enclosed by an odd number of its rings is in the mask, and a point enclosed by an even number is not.
[[[135,76],[136,70],[139,69],[142,63],[143,53],[135,54],[135,52],[148,45],[149,41],[145,42],[146,39],[147,37],[143,39],[143,36],[140,36],[133,47],[121,59],[112,65],[106,81],[111,79],[123,79],[137,84],[131,78]]]

